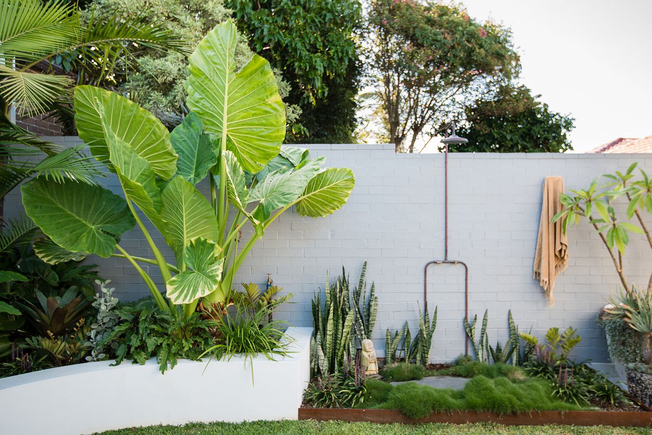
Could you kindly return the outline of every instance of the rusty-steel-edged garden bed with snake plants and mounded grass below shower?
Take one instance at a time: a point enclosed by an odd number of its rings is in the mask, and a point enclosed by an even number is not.
[[[642,408],[604,375],[569,357],[582,340],[575,329],[553,327],[539,340],[521,333],[511,313],[507,322],[510,337],[495,346],[488,344],[488,311],[482,322],[477,316],[465,318],[473,357],[462,356],[452,365],[429,364],[437,308],[432,316],[419,314],[416,335],[408,323],[394,333],[387,330],[385,365],[379,376],[366,377],[369,370],[361,364],[361,351],[351,346],[353,340],[363,342],[376,316],[375,289],[372,285],[366,295],[364,272],[363,267],[352,291],[343,272],[333,284],[327,283],[323,305],[319,295],[313,301],[314,380],[304,395],[300,418],[423,423],[451,421],[447,418],[454,415],[459,422],[541,425],[563,419],[581,424],[591,421],[587,415],[600,415],[592,424],[651,424],[652,414],[641,412],[648,409],[645,404]],[[349,316],[355,318],[355,326],[353,332],[346,333]],[[467,381],[457,390],[417,383],[427,376],[456,376]]]

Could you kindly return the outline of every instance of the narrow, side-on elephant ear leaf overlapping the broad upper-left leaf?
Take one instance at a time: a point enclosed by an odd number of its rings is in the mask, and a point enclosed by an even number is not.
[[[125,190],[126,198],[138,205],[156,228],[163,232],[164,222],[160,217],[163,201],[151,164],[138,155],[129,143],[115,134],[108,122],[104,108],[100,107],[99,111],[104,138],[109,150],[109,160]]]

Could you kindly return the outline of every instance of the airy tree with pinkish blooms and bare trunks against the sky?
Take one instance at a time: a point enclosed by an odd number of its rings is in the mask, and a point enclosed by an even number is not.
[[[370,85],[397,152],[520,70],[509,30],[460,7],[374,0],[367,25]]]

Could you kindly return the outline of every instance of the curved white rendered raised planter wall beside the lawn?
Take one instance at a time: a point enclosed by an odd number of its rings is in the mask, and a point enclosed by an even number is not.
[[[109,361],[0,379],[2,434],[79,435],[190,422],[296,420],[310,378],[311,328],[288,328],[290,355],[250,362],[181,360],[165,374],[156,361]]]

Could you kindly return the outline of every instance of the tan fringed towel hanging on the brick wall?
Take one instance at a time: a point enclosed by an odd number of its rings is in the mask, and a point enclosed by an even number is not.
[[[539,239],[537,252],[534,256],[534,278],[546,291],[550,305],[554,305],[552,288],[555,278],[562,273],[569,264],[569,241],[561,230],[561,219],[550,222],[563,205],[559,196],[564,192],[564,179],[562,177],[546,177],[543,182],[543,203],[541,206],[541,220],[539,221]]]

